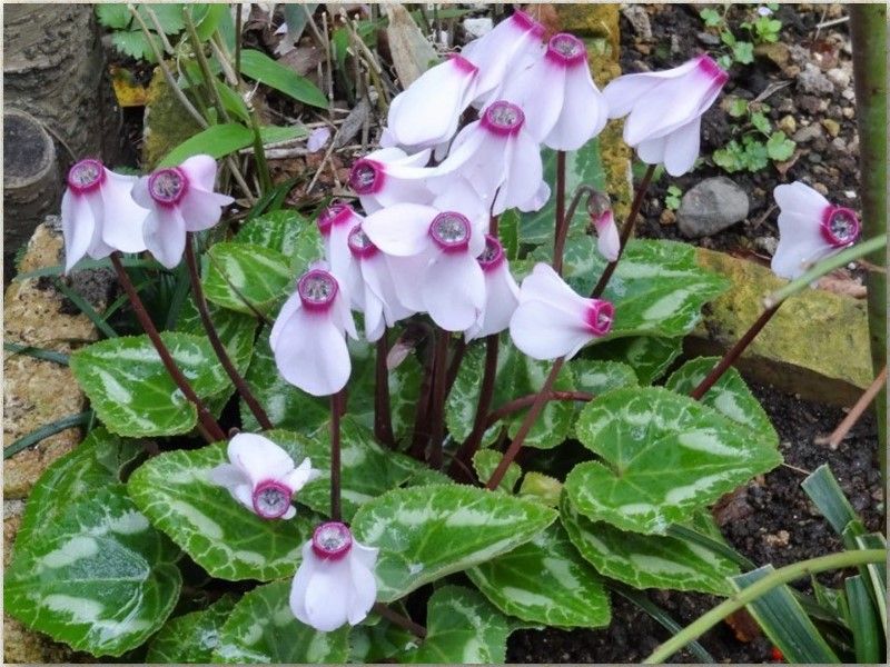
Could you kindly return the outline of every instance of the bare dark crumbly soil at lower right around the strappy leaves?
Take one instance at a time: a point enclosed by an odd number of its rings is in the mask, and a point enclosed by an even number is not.
[[[869,530],[884,522],[883,486],[878,472],[878,435],[871,414],[863,417],[841,446],[831,451],[814,439],[831,432],[844,412],[808,402],[763,385],[751,389],[770,416],[781,442],[785,465],[763,479],[752,480],[733,496],[718,516],[723,535],[756,565],[782,567],[824,556],[842,548],[831,526],[815,510],[800,487],[805,472],[828,464],[853,508]],[[793,466],[793,467],[792,467]],[[842,573],[820,578],[839,586]],[[805,583],[804,583],[805,584]],[[805,586],[802,587],[807,590]],[[699,594],[651,590],[650,599],[686,626],[721,599]],[[507,645],[507,663],[639,663],[670,637],[652,617],[612,595],[612,623],[602,630],[520,630]],[[772,644],[763,636],[739,641],[729,625],[721,624],[700,640],[721,663],[774,661]],[[698,661],[688,650],[671,661]]]

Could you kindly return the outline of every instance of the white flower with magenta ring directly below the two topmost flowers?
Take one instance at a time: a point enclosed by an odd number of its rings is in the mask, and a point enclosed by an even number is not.
[[[550,188],[543,180],[538,145],[524,125],[525,115],[516,104],[494,102],[455,137],[448,157],[432,169],[437,177],[429,181],[431,187],[446,192],[463,180],[483,200],[493,201],[494,216],[508,208],[541,208]]]

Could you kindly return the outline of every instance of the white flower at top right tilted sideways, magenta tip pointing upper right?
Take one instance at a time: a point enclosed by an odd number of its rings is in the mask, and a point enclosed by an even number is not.
[[[699,157],[702,115],[728,79],[716,62],[700,56],[662,72],[619,77],[603,94],[610,118],[627,116],[624,141],[639,158],[681,176]]]

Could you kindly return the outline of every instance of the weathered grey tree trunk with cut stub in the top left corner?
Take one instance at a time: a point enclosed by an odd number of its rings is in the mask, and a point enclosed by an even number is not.
[[[59,173],[66,173],[72,160],[85,157],[98,157],[106,162],[117,158],[120,113],[106,77],[91,4],[4,6],[3,97],[7,108],[27,111],[58,142]],[[28,159],[30,155],[18,152],[12,156],[4,151],[7,169],[10,169],[8,158]],[[29,165],[12,168],[18,173],[34,171]],[[42,195],[47,208],[57,208],[59,196],[59,186],[48,186]],[[21,208],[4,198],[7,260],[21,245],[17,239],[28,238],[42,221],[42,215],[32,217],[33,203]]]

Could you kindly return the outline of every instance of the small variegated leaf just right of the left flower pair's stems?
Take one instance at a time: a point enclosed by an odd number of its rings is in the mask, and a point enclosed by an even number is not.
[[[274,318],[276,303],[296,286],[287,258],[263,246],[220,242],[210,247],[207,257],[204,292],[224,308],[246,315],[256,309]]]

